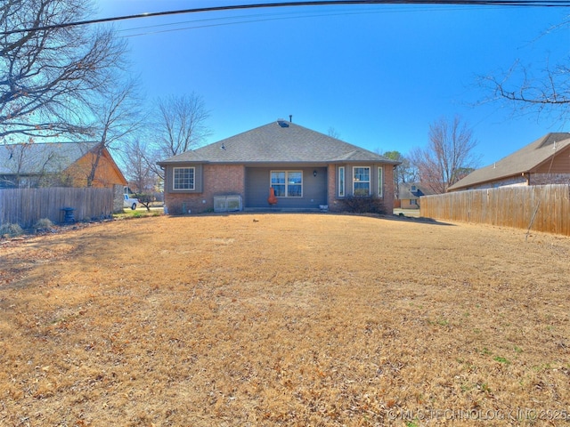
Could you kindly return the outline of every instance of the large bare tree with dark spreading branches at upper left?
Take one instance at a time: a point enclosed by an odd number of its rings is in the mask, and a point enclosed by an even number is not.
[[[109,84],[125,44],[112,30],[61,26],[93,13],[85,0],[4,0],[0,5],[0,137],[88,133],[81,114]],[[21,31],[18,28],[41,28]]]

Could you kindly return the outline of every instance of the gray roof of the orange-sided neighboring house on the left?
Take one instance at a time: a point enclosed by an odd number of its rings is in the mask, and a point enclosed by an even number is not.
[[[24,175],[42,172],[60,173],[96,145],[97,142],[33,142],[0,145],[0,173],[19,172]]]

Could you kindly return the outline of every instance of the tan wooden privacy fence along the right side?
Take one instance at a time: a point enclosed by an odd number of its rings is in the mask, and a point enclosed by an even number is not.
[[[470,189],[420,198],[421,216],[570,236],[570,185]]]

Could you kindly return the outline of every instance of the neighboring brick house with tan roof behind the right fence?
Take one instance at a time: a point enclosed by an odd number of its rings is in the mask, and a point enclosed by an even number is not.
[[[570,184],[570,133],[548,133],[493,165],[476,169],[447,190],[544,184]]]

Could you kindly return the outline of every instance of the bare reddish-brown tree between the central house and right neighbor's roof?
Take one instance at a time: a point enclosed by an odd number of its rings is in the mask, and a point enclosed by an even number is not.
[[[450,122],[441,118],[429,126],[428,148],[413,149],[411,159],[418,168],[419,180],[435,193],[444,193],[459,181],[466,170],[480,163],[480,156],[473,153],[476,140],[460,117]]]

